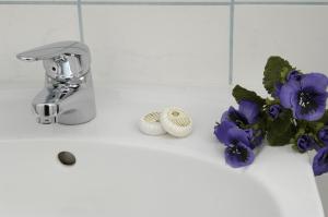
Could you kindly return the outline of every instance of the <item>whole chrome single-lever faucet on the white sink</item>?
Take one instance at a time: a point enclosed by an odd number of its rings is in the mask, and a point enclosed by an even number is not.
[[[78,41],[60,41],[19,53],[24,61],[43,60],[45,87],[32,106],[43,124],[80,124],[96,116],[90,50]]]

